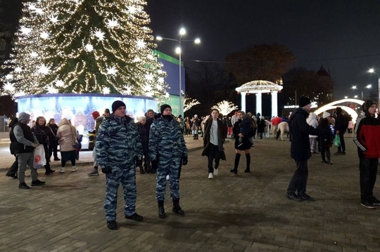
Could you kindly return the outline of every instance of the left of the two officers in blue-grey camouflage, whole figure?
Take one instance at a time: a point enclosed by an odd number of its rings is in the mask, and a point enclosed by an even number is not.
[[[113,113],[104,119],[96,134],[96,160],[101,171],[106,173],[106,212],[107,227],[118,228],[116,207],[118,187],[124,190],[125,218],[142,221],[136,213],[136,166],[141,166],[142,146],[134,120],[125,115],[125,103],[116,100],[112,105]]]

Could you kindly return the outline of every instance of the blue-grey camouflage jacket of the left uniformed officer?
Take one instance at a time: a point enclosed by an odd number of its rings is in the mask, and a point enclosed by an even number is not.
[[[140,135],[133,119],[106,117],[96,133],[96,160],[101,167],[131,165],[141,158]]]

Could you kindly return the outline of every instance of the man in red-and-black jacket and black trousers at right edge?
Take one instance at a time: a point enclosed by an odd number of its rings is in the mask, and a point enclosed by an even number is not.
[[[360,204],[367,208],[380,206],[380,201],[373,195],[380,158],[380,120],[379,114],[375,118],[376,109],[377,104],[372,100],[363,103],[365,116],[357,120],[353,137],[359,155]]]

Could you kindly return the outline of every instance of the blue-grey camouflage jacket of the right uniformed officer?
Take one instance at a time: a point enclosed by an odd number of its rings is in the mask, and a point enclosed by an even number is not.
[[[187,156],[184,135],[178,121],[160,117],[153,121],[149,133],[149,156],[152,160],[160,157]]]

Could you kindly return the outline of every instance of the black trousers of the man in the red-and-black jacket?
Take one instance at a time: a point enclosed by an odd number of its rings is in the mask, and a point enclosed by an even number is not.
[[[376,183],[377,166],[379,159],[360,158],[360,197],[369,199],[373,195],[374,184]]]

